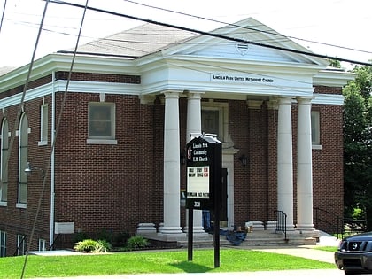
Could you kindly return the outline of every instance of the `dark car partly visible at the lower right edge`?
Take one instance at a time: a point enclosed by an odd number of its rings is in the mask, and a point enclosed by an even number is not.
[[[372,232],[345,237],[335,252],[335,263],[345,275],[372,273]]]

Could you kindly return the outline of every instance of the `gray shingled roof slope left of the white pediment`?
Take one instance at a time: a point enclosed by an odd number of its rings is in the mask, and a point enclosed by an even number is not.
[[[83,44],[79,46],[77,51],[91,55],[139,58],[167,49],[172,44],[182,43],[195,36],[197,36],[195,33],[189,31],[146,23],[139,27]]]

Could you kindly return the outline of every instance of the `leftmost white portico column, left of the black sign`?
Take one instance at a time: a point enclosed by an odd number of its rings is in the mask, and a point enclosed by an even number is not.
[[[164,96],[164,224],[159,232],[181,234],[179,93]]]

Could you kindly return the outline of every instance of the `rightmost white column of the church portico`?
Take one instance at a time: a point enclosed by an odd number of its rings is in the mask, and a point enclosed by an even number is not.
[[[297,229],[314,230],[311,98],[298,98]]]

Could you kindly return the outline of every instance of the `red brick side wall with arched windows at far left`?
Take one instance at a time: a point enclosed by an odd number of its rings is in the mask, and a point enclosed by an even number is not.
[[[45,102],[50,102],[50,97],[45,97]],[[27,102],[25,113],[27,114],[28,127],[31,132],[28,134],[28,159],[36,167],[46,169],[47,157],[50,153],[50,145],[38,146],[40,140],[40,105],[42,99],[36,99]],[[51,104],[51,103],[50,103]],[[49,107],[49,109],[51,109]],[[19,129],[19,121],[16,121],[19,106],[12,106],[4,110],[4,116],[9,121],[9,129],[14,136],[14,128]],[[8,163],[8,202],[6,207],[0,207],[0,229],[7,233],[7,254],[13,255],[16,251],[16,236],[27,235],[30,237],[33,228],[35,216],[37,214],[37,223],[35,227],[34,242],[30,245],[30,250],[36,250],[39,238],[49,239],[49,220],[50,220],[50,178],[46,177],[45,184],[41,172],[35,171],[28,177],[27,183],[27,210],[16,208],[18,201],[18,154],[19,154],[19,136],[10,139],[9,147],[10,159]],[[40,208],[38,209],[40,200]]]

